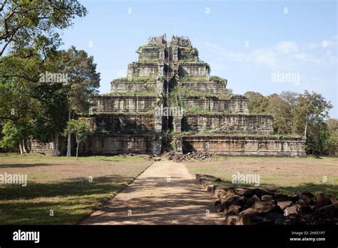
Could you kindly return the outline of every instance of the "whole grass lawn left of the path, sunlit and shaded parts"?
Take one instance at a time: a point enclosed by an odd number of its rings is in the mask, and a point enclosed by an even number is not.
[[[0,154],[0,174],[26,174],[28,181],[26,187],[0,184],[0,224],[76,224],[151,163],[139,156],[76,161],[75,157]]]

